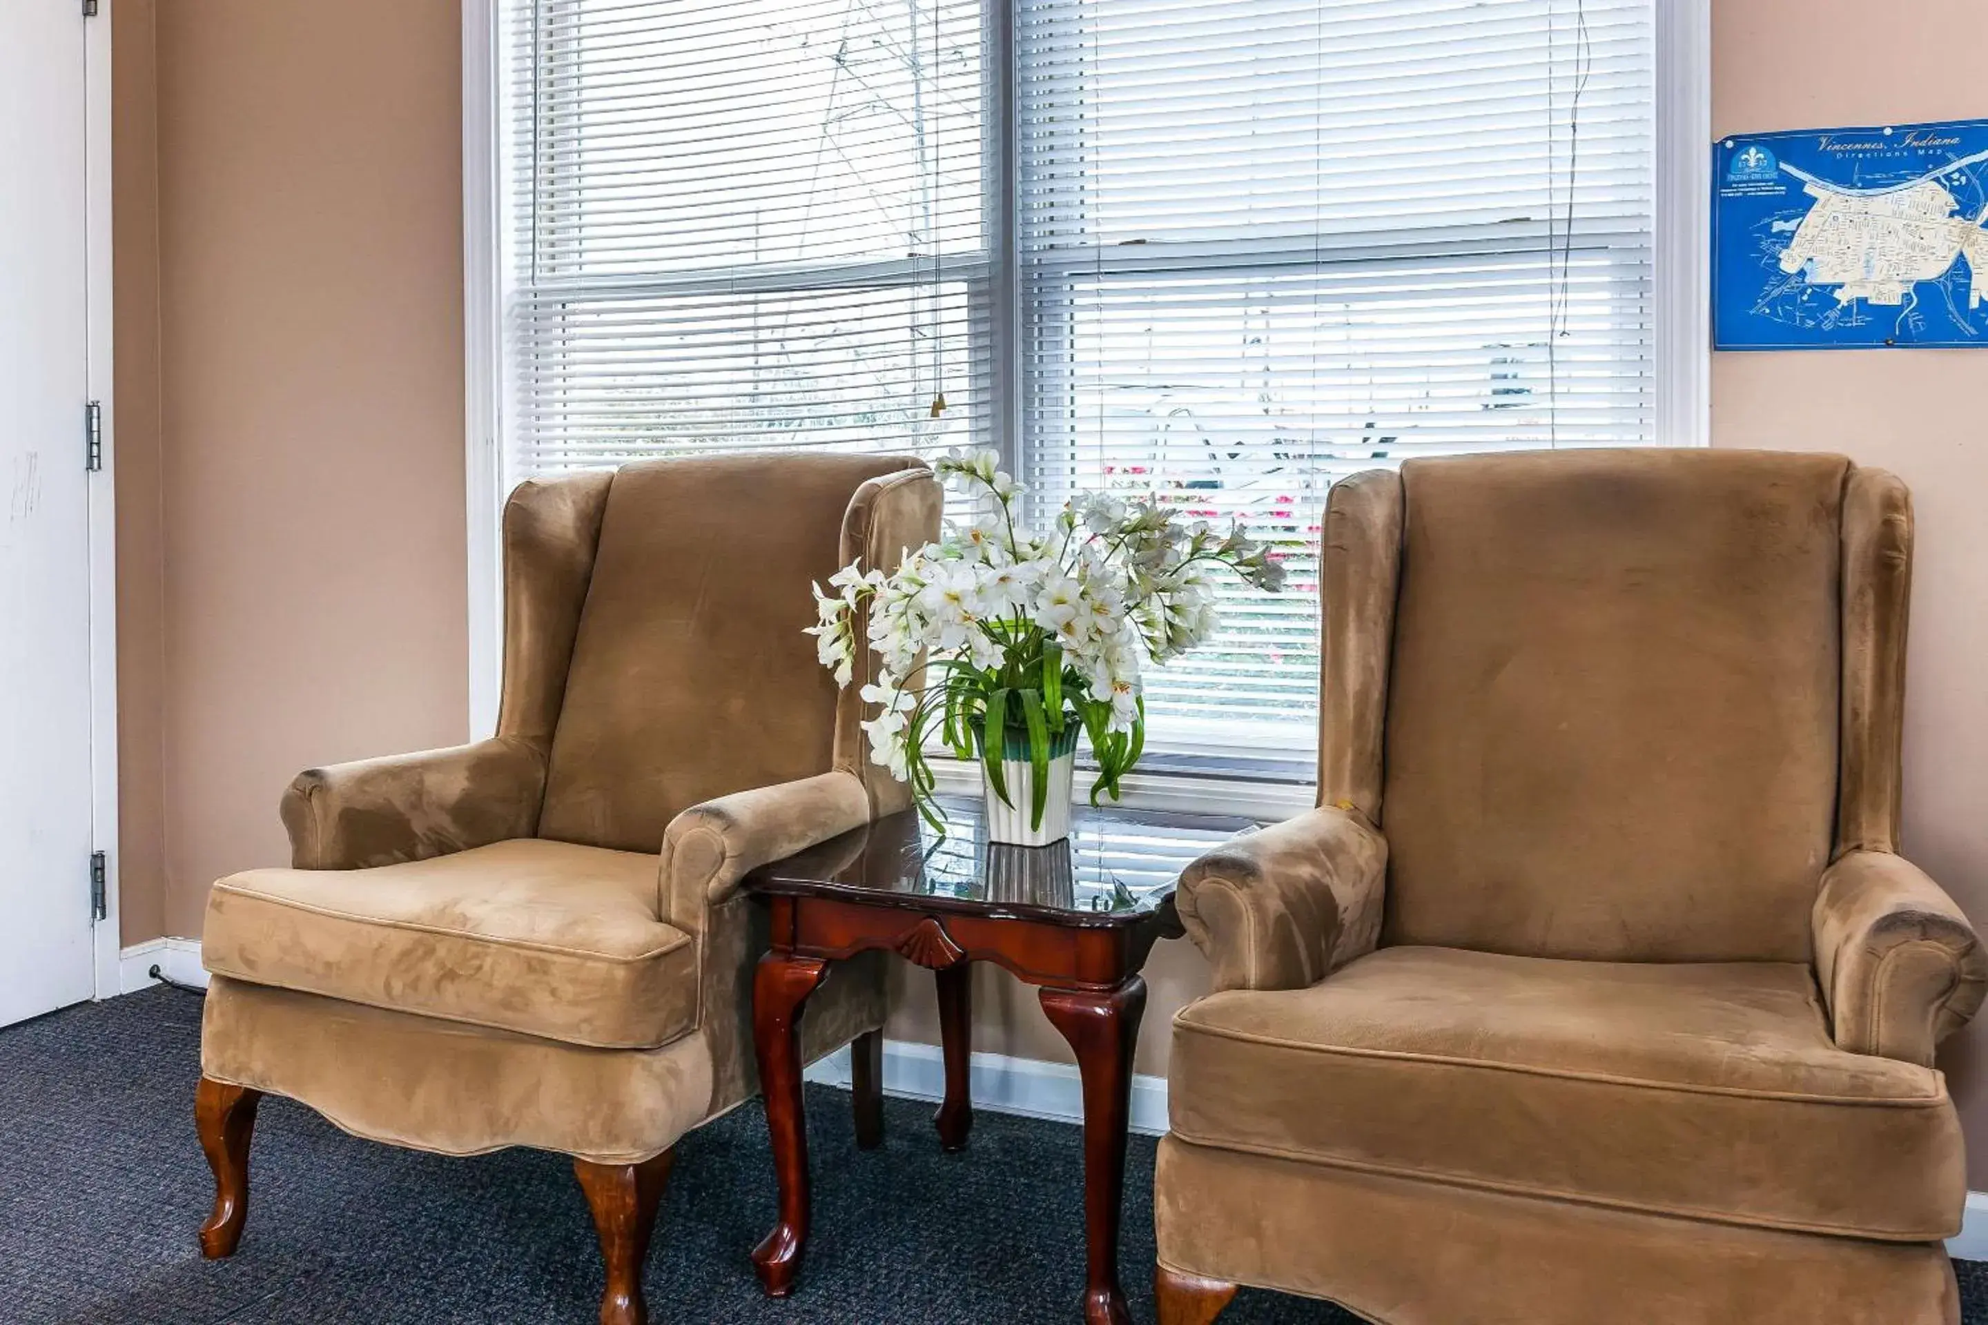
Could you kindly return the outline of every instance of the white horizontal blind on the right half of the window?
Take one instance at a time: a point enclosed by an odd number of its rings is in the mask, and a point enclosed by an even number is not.
[[[1652,441],[1652,0],[1018,0],[1022,445],[1286,548],[1155,749],[1308,753],[1330,483]]]

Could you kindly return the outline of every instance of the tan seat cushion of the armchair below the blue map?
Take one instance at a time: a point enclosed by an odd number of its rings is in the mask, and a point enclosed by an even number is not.
[[[1837,1049],[1807,965],[1384,948],[1173,1027],[1173,1130],[1205,1146],[1765,1228],[1960,1228],[1944,1079]]]

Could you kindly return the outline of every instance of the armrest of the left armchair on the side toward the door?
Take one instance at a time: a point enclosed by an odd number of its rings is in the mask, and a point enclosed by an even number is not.
[[[360,870],[531,836],[543,799],[545,751],[493,737],[298,773],[282,826],[294,868]]]

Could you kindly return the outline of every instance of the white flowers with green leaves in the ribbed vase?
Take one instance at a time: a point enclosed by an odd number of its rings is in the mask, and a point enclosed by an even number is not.
[[[1155,501],[1083,495],[1048,534],[1024,532],[1022,485],[998,463],[998,451],[958,449],[938,461],[942,481],[990,499],[988,515],[907,550],[893,574],[845,566],[829,590],[815,586],[821,620],[807,630],[845,687],[861,644],[877,652],[877,681],[861,691],[877,705],[863,723],[871,759],[911,785],[934,826],[942,820],[924,759],[934,721],[960,759],[980,747],[988,787],[1004,803],[1006,733],[1026,737],[1038,826],[1050,749],[1072,721],[1097,759],[1091,805],[1099,795],[1117,799],[1145,745],[1141,660],[1161,663],[1209,638],[1211,570],[1229,568],[1270,592],[1284,582],[1282,564],[1241,528],[1185,524]],[[863,608],[869,626],[859,644]]]

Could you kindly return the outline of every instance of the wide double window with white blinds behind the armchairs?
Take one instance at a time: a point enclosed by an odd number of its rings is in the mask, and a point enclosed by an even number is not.
[[[503,485],[998,445],[1239,518],[1290,586],[1157,755],[1308,775],[1334,479],[1664,435],[1656,0],[491,2]]]

